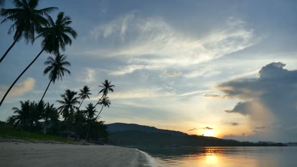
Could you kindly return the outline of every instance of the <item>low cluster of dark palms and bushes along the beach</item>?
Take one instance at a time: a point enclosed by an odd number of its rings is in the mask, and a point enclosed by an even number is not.
[[[81,138],[84,136],[85,140],[88,140],[89,137],[93,139],[107,138],[107,127],[104,125],[104,121],[98,121],[98,117],[104,107],[110,106],[111,102],[107,94],[113,92],[115,86],[105,80],[100,87],[102,89],[98,94],[102,93],[102,97],[95,105],[88,103],[85,109],[81,109],[81,106],[84,100],[89,99],[89,95],[92,95],[87,85],[79,90],[79,94],[76,91],[66,89],[64,94],[60,95],[61,100],[56,101],[61,104],[57,108],[54,104],[45,103],[43,100],[38,103],[30,102],[30,100],[21,101],[20,108],[12,108],[17,115],[9,116],[6,122],[31,131],[46,130],[48,133],[72,131],[80,135]],[[100,111],[96,108],[98,104],[101,105]],[[62,122],[59,121],[60,115],[64,119]],[[89,136],[90,131],[92,132],[91,136]]]

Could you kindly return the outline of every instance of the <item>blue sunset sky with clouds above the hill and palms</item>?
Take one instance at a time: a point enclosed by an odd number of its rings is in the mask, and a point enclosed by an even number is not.
[[[41,0],[71,17],[78,37],[64,52],[71,75],[51,84],[44,101],[65,89],[114,84],[101,119],[239,141],[296,142],[297,1]],[[12,8],[6,2],[4,8]],[[51,14],[53,18],[58,14]],[[1,18],[3,19],[3,18]],[[0,51],[13,42],[0,25]],[[18,42],[0,64],[0,97],[40,52]],[[21,77],[0,107],[38,101],[49,82],[48,53]],[[99,108],[98,108],[99,109]]]

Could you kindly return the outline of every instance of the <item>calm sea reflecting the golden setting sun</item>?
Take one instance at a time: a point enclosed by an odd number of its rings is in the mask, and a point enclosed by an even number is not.
[[[153,167],[297,167],[297,146],[138,149]]]

